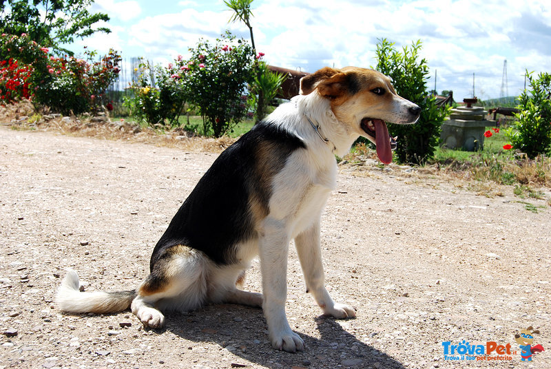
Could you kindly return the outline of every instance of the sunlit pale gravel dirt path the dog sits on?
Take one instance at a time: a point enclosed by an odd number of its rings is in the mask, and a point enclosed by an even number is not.
[[[214,158],[1,127],[0,368],[551,368],[551,208],[530,200],[533,213],[512,193],[485,198],[396,168],[343,167],[322,218],[327,284],[357,319],[320,316],[291,246],[287,312],[305,352],[272,350],[262,311],[236,305],[169,315],[164,330],[129,312],[56,310],[67,267],[87,291],[143,280]],[[260,291],[258,263],[245,288]],[[513,334],[528,326],[540,327],[545,352],[521,363]],[[446,361],[445,341],[517,354]]]

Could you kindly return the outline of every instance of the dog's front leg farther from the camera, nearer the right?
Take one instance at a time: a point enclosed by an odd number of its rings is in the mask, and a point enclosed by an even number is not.
[[[351,306],[336,304],[327,292],[322,265],[322,250],[320,245],[320,221],[295,238],[298,258],[306,288],[313,295],[315,302],[322,308],[323,313],[335,318],[355,317],[356,313]]]

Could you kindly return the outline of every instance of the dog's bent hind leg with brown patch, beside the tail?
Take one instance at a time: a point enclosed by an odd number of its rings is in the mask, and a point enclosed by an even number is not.
[[[132,313],[144,326],[165,324],[162,311],[187,311],[205,302],[207,261],[199,251],[172,246],[158,257],[151,274],[138,288]]]

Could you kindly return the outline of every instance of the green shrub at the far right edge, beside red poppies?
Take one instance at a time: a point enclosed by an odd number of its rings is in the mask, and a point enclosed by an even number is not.
[[[535,158],[551,150],[551,74],[540,73],[538,78],[526,74],[530,87],[519,96],[520,112],[507,136],[514,149]]]

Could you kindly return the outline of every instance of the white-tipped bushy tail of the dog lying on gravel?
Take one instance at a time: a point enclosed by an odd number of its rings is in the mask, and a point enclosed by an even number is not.
[[[56,303],[65,313],[116,313],[126,310],[136,297],[136,290],[116,292],[81,292],[79,275],[67,269],[67,275],[57,290]]]

